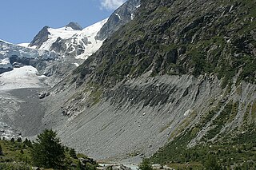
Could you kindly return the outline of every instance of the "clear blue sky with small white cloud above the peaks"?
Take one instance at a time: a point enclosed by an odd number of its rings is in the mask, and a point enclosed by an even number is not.
[[[59,28],[78,22],[83,28],[110,16],[126,0],[4,0],[0,39],[31,42],[43,26]]]

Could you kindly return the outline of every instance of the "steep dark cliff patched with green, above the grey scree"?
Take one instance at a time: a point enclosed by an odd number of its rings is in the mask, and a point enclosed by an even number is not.
[[[202,13],[201,5],[194,2],[198,9],[184,9],[190,15],[183,18],[178,16],[186,14],[180,10],[186,2],[150,4],[149,8],[140,8],[139,18],[108,38],[100,52],[74,73],[81,77],[91,73],[91,62],[98,63],[95,82],[105,86],[146,72],[151,77],[214,74],[222,79],[223,89],[235,75],[238,83],[256,83],[255,1],[217,1],[209,5],[211,10],[207,13]]]

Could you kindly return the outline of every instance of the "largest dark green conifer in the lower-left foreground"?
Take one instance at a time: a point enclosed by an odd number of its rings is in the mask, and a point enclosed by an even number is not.
[[[65,158],[65,149],[57,133],[46,129],[38,135],[37,142],[31,148],[34,165],[44,168],[61,168]]]

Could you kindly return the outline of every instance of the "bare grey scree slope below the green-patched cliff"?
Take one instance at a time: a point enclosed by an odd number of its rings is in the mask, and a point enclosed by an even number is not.
[[[63,109],[69,111],[69,121],[54,121],[54,117],[60,115],[59,110],[51,113],[47,120],[60,129],[59,133],[66,144],[95,159],[120,160],[134,151],[150,156],[169,141],[170,135],[175,134],[177,129],[193,127],[200,117],[205,117],[210,109],[216,108],[226,98],[226,89],[222,89],[221,84],[217,77],[138,77],[115,85],[111,90],[106,89],[102,100],[90,107],[86,107],[90,100],[85,96],[88,89],[70,89],[66,86],[67,89],[51,98],[49,102],[52,104],[48,109],[52,111],[56,105],[65,104]],[[256,86],[244,83],[242,87],[242,96],[236,93],[234,87],[228,95],[229,100],[223,101],[222,105],[230,100],[245,102],[244,105],[253,102],[256,94],[245,92],[254,92]],[[66,100],[67,92],[70,100]],[[214,97],[218,98],[213,101]],[[242,119],[243,112],[238,112],[234,120],[225,125],[226,129],[237,128],[237,121]],[[202,132],[202,136],[206,132]]]

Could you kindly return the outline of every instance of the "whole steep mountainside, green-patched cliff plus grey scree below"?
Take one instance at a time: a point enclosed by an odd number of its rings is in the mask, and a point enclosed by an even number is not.
[[[188,147],[235,138],[255,122],[254,5],[142,1],[50,90],[43,122],[96,159],[150,156],[191,129]]]

